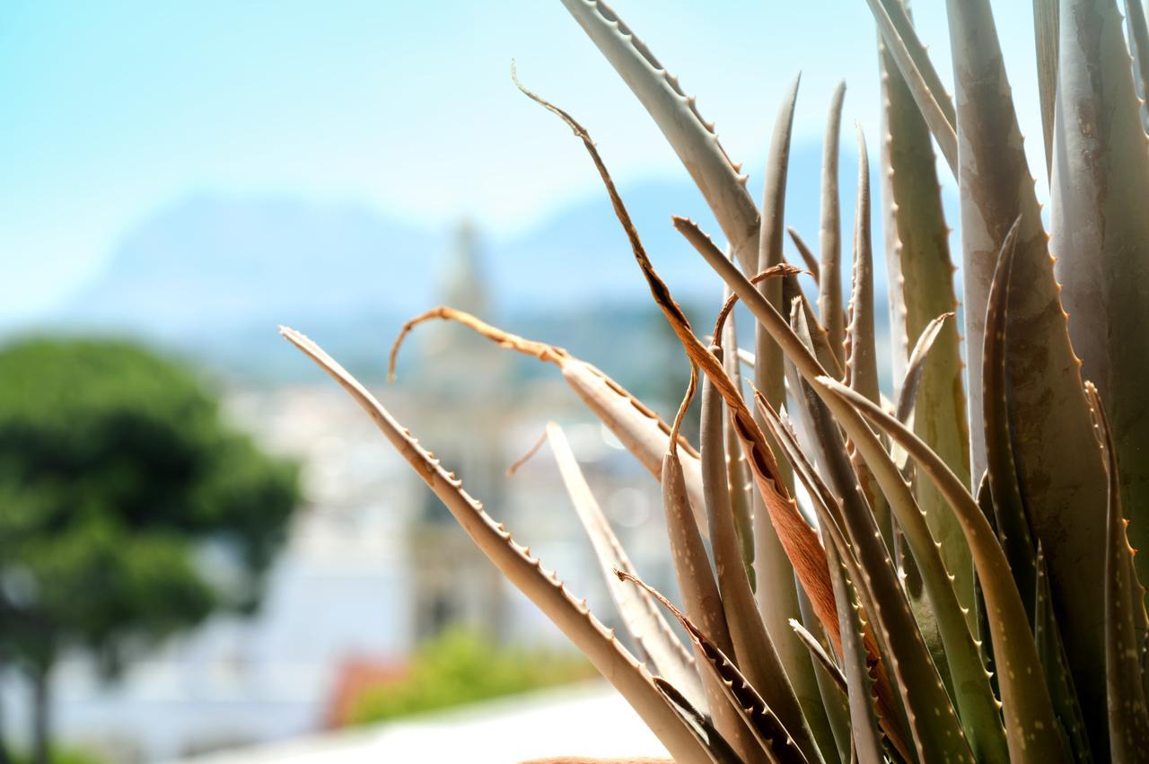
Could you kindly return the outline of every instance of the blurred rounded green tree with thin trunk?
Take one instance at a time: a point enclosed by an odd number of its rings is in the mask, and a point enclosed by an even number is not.
[[[296,484],[177,363],[110,340],[0,350],[0,659],[31,682],[33,763],[61,653],[110,678],[214,610],[253,610]]]

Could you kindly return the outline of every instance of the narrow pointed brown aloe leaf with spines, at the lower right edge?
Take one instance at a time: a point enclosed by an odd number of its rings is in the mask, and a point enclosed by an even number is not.
[[[1105,687],[1109,694],[1109,742],[1117,762],[1141,761],[1149,751],[1149,705],[1141,674],[1141,642],[1135,613],[1142,607],[1133,549],[1121,511],[1117,446],[1097,388],[1086,383],[1097,417],[1098,439],[1109,476],[1105,511]]]

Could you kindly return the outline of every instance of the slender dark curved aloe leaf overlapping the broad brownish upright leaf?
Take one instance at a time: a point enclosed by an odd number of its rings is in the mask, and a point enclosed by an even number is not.
[[[1007,400],[1005,353],[1010,337],[1007,333],[1010,280],[1013,255],[1017,249],[1017,224],[1010,229],[1002,245],[997,269],[989,290],[986,308],[986,342],[982,349],[981,403],[986,433],[986,463],[993,495],[997,538],[1009,560],[1018,592],[1034,592],[1036,568],[1034,543],[1026,519],[1021,488],[1017,481],[1013,446],[1010,437],[1009,402]],[[1023,599],[1030,623],[1034,623],[1033,601]]]

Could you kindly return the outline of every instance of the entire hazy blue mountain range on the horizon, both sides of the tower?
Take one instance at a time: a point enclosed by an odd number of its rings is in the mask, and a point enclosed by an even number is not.
[[[815,247],[820,162],[820,146],[796,146],[787,192],[787,223]],[[841,167],[842,199],[849,200],[853,155],[843,153]],[[750,187],[758,196],[756,175]],[[623,184],[620,192],[655,267],[681,302],[701,307],[696,321],[709,323],[720,284],[670,225],[671,215],[689,216],[722,241],[699,192],[685,173]],[[848,231],[849,206],[842,211]],[[878,219],[874,245],[880,253]],[[273,334],[277,324],[290,324],[348,366],[376,369],[403,319],[457,288],[456,248],[449,230],[425,230],[367,207],[201,194],[130,232],[52,323],[139,334],[225,373],[265,379],[299,368]],[[625,334],[627,325],[649,327],[649,292],[599,188],[514,237],[486,239],[479,226],[476,249],[468,261],[476,272],[462,278],[486,292],[493,321],[524,333],[546,329],[541,338],[572,350],[611,332]],[[788,239],[786,250],[797,260]],[[884,301],[885,263],[877,260]],[[625,354],[627,344],[614,345]]]

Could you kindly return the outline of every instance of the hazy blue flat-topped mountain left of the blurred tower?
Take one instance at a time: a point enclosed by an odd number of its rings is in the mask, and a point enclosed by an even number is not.
[[[411,277],[435,272],[441,249],[433,232],[364,207],[198,195],[130,232],[60,318],[182,337],[408,311],[431,296]]]

